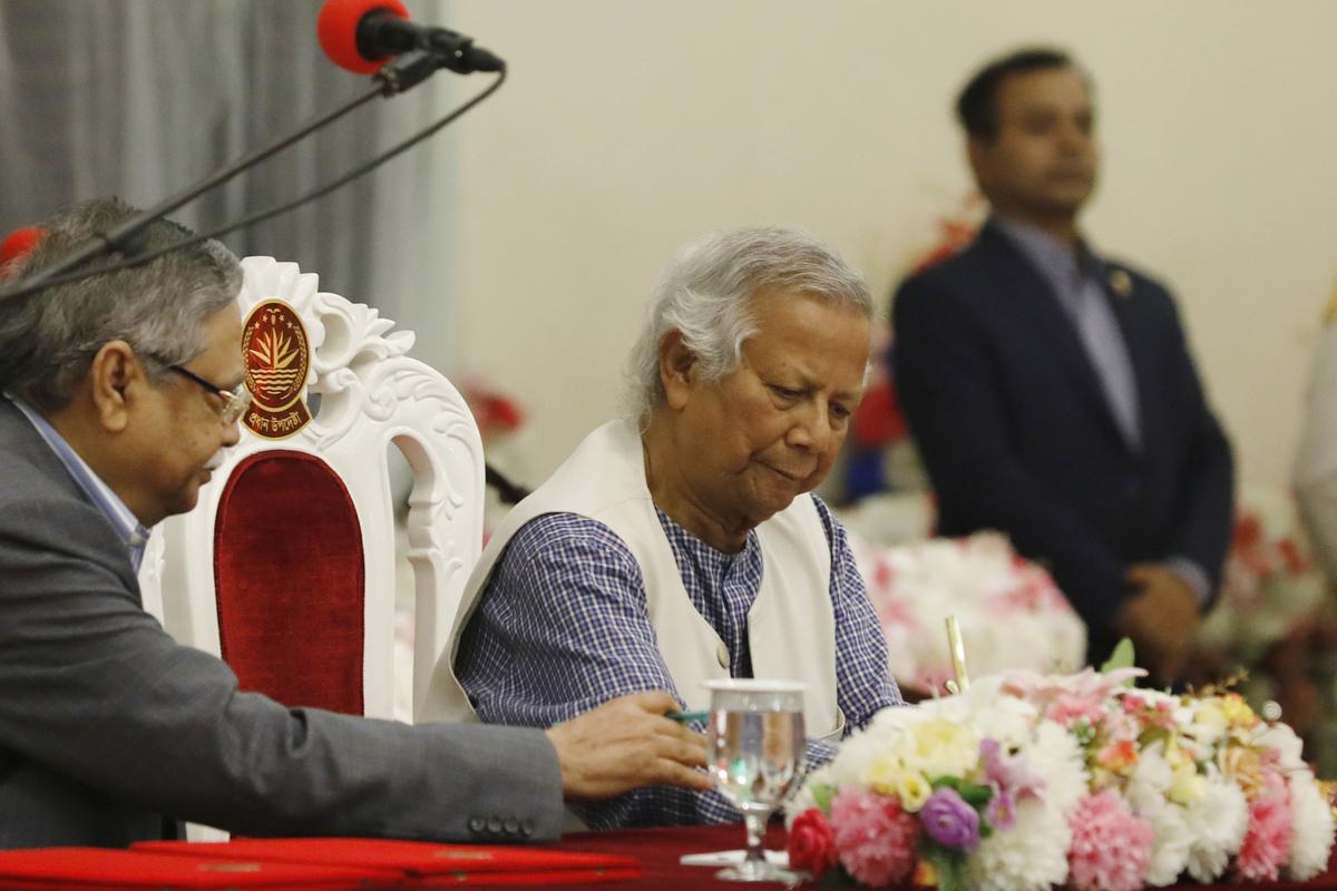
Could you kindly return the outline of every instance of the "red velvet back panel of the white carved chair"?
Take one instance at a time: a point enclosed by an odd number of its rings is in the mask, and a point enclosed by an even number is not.
[[[362,533],[342,480],[313,454],[245,458],[214,524],[222,656],[242,689],[362,713]]]

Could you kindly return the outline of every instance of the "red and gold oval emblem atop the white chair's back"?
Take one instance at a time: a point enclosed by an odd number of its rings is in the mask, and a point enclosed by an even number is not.
[[[283,301],[263,301],[242,327],[242,361],[251,407],[242,422],[258,437],[286,439],[310,419],[302,401],[312,357],[302,318]]]

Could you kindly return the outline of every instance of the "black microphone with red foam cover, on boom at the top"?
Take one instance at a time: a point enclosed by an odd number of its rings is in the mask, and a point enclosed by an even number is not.
[[[357,75],[374,73],[392,56],[414,49],[461,75],[505,68],[472,37],[409,21],[401,0],[326,0],[316,31],[330,61]]]

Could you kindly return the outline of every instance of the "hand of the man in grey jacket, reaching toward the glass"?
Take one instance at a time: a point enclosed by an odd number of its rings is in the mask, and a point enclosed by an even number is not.
[[[571,799],[606,799],[642,785],[711,788],[706,737],[664,717],[678,708],[666,692],[622,696],[547,731],[562,788]]]

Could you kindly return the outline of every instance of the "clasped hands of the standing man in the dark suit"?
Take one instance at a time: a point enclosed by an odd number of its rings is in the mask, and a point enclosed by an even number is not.
[[[1161,681],[1181,676],[1193,649],[1202,604],[1183,576],[1165,564],[1128,568],[1132,594],[1115,628],[1138,648],[1138,663]]]

